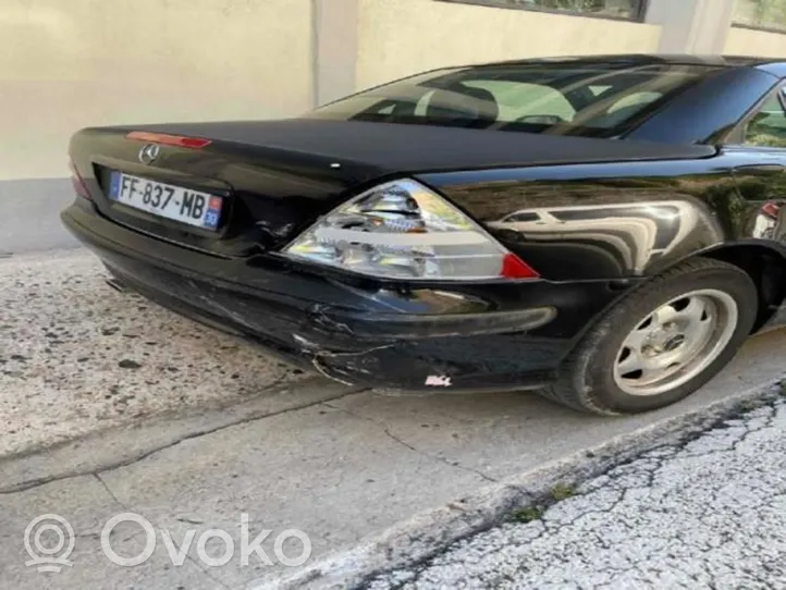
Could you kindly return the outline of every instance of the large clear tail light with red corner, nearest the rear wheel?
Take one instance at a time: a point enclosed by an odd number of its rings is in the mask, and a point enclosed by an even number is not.
[[[409,180],[383,184],[342,205],[284,254],[378,278],[538,278],[466,214]]]

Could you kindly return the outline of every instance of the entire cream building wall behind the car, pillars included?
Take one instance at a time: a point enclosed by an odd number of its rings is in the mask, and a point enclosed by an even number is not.
[[[721,22],[733,0],[689,0],[690,23],[686,1],[650,0],[641,24],[437,0],[0,0],[0,181],[63,179],[86,125],[279,118],[444,65],[690,50],[697,23],[719,51],[786,57],[786,35]]]

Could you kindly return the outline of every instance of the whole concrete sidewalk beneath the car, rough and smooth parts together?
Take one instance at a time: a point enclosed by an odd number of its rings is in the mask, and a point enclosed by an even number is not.
[[[266,565],[257,555],[251,555],[248,565],[240,555],[220,567],[206,565],[196,539],[209,529],[221,529],[240,549],[244,514],[251,538],[272,531],[262,544],[271,557],[274,539],[285,529],[306,533],[312,545],[308,565],[484,485],[636,432],[658,419],[702,408],[783,373],[786,334],[771,333],[753,339],[732,368],[691,400],[648,416],[580,416],[525,393],[382,396],[285,373],[286,369],[249,349],[213,356],[224,336],[196,328],[192,332],[191,325],[181,325],[182,320],[162,310],[123,305],[124,297],[100,284],[90,262],[81,263],[73,262],[76,267],[69,267],[71,270],[67,265],[54,265],[63,269],[63,275],[53,280],[57,272],[44,261],[26,262],[23,267],[29,270],[24,275],[5,281],[20,290],[39,285],[41,297],[49,303],[34,315],[11,304],[5,309],[11,309],[12,316],[4,311],[0,323],[29,324],[29,333],[36,334],[62,322],[66,314],[73,319],[67,331],[75,335],[73,342],[50,347],[46,356],[35,346],[33,353],[27,352],[26,367],[14,365],[12,371],[26,371],[27,376],[57,370],[57,382],[49,383],[45,393],[19,395],[15,381],[2,382],[2,400],[13,400],[5,419],[26,415],[22,421],[30,426],[25,431],[36,433],[12,443],[8,442],[11,435],[2,433],[9,455],[0,463],[0,580],[9,588],[243,588],[292,571],[278,562]],[[72,296],[63,308],[57,302],[64,300],[67,293],[73,295],[77,285],[76,279],[66,276],[72,271],[78,275],[78,284],[89,288],[77,288],[79,295]],[[79,316],[74,310],[82,308],[78,302],[88,308],[102,302],[103,307]],[[147,319],[137,321],[139,314]],[[181,328],[171,329],[175,324]],[[101,378],[111,385],[112,378],[126,374],[114,369],[119,352],[127,356],[136,344],[118,345],[120,348],[106,344],[118,334],[86,337],[107,325],[121,325],[121,332],[131,328],[144,331],[131,341],[160,334],[158,354],[167,364],[177,359],[196,366],[194,359],[209,358],[208,366],[231,367],[243,377],[229,374],[226,379],[219,372],[217,381],[208,381],[207,373],[216,372],[212,369],[191,378],[183,374],[186,371],[163,370],[157,372],[155,385],[146,388],[142,380],[135,386],[143,400],[159,397],[163,404],[160,411],[138,418],[123,416],[108,430],[95,421],[78,421],[78,415],[59,413],[57,406],[62,401],[75,407],[70,400],[84,390],[85,379],[93,378],[86,377],[88,371],[58,370],[58,355],[62,352],[64,367],[71,367],[67,359],[75,354],[74,347],[93,358],[112,355],[113,368]],[[202,337],[192,339],[192,333]],[[271,374],[272,379],[265,377]],[[238,380],[246,390],[243,394],[231,385]],[[60,398],[58,392],[63,392]],[[168,397],[169,392],[177,393]],[[192,392],[195,401],[189,404]],[[40,395],[48,396],[48,402],[38,404]],[[185,406],[180,407],[182,396]],[[100,396],[96,403],[102,403]],[[105,407],[109,411],[109,406]],[[139,407],[152,408],[153,404]],[[46,421],[54,425],[35,427],[39,413],[50,416]],[[111,411],[109,416],[113,416]],[[59,417],[82,425],[84,437],[63,440]],[[49,439],[45,427],[58,437]],[[94,427],[97,430],[91,431]],[[60,441],[56,447],[16,453],[54,441]],[[115,565],[101,551],[103,526],[124,512],[143,516],[158,529],[152,556],[136,567]],[[30,558],[23,542],[25,528],[33,518],[49,513],[67,519],[75,533],[70,556],[73,566],[57,574],[25,566]],[[161,531],[170,533],[177,546],[189,531],[195,533],[183,565],[171,563]],[[144,549],[146,536],[138,525],[126,523],[114,532],[112,546],[119,553],[135,555]],[[217,543],[208,543],[207,552],[221,553],[222,541],[212,541]],[[288,543],[284,549],[297,554],[298,546]]]

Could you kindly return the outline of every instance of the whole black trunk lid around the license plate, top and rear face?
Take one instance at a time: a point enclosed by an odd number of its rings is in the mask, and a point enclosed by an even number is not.
[[[204,147],[159,145],[131,132],[206,138]],[[671,146],[430,125],[319,119],[100,127],[78,132],[71,157],[99,211],[136,231],[219,256],[248,256],[293,239],[347,193],[385,176],[418,172],[553,165],[714,155],[710,146]],[[222,199],[218,226],[205,230],[110,198],[112,174]],[[116,183],[116,181],[115,181]],[[212,200],[211,200],[212,202]]]

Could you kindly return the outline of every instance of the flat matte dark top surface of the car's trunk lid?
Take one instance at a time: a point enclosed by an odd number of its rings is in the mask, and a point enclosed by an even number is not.
[[[712,146],[541,135],[428,124],[286,119],[150,125],[142,131],[208,137],[285,152],[304,163],[342,162],[379,173],[443,172],[621,160],[687,159],[715,155]]]

